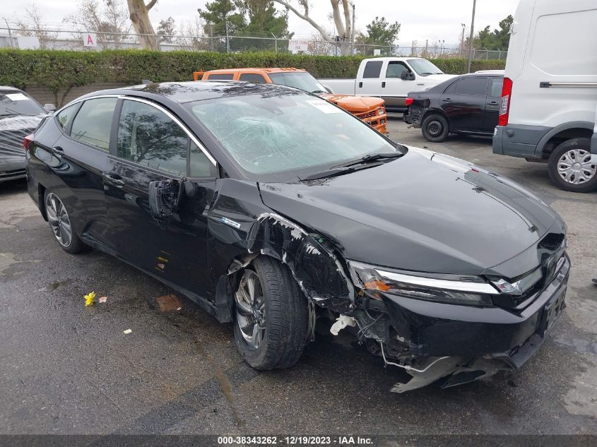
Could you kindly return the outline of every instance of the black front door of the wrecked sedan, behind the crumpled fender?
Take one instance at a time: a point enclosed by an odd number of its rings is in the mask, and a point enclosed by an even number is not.
[[[117,254],[191,297],[209,299],[203,212],[213,198],[215,164],[160,105],[127,98],[119,108],[104,173]],[[176,212],[158,221],[150,213],[149,184],[164,180],[184,182],[185,189]]]

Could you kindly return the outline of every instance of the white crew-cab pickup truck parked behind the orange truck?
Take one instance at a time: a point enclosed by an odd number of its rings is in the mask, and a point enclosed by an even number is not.
[[[420,57],[376,57],[361,61],[356,79],[319,82],[332,93],[381,97],[386,109],[403,111],[408,92],[425,90],[454,76]]]

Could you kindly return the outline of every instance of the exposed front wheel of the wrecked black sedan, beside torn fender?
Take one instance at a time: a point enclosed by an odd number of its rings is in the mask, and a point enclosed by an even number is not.
[[[309,311],[288,267],[267,256],[244,269],[235,293],[235,345],[255,369],[298,362],[307,342]]]

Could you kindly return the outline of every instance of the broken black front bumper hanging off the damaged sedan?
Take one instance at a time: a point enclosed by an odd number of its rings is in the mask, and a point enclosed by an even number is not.
[[[454,386],[501,369],[519,369],[538,350],[565,308],[569,258],[524,309],[443,304],[383,294],[391,324],[415,357],[440,359],[393,391],[402,393],[447,377]],[[414,383],[413,383],[414,381]]]

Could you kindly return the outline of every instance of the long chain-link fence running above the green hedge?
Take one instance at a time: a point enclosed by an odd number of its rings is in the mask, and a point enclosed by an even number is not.
[[[276,52],[326,56],[420,56],[426,58],[466,58],[468,49],[458,44],[371,45],[360,42],[330,42],[314,38],[199,36],[199,35],[138,35],[124,32],[86,32],[65,30],[31,30],[0,28],[0,47],[21,49],[141,49],[161,51],[211,51],[222,53]],[[473,48],[473,59],[506,59],[500,49]]]

